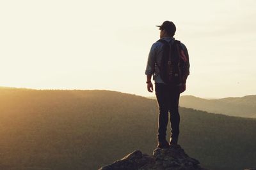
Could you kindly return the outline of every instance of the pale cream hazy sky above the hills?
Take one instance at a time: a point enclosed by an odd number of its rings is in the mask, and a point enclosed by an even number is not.
[[[154,96],[145,68],[164,20],[189,52],[182,95],[256,94],[256,1],[0,1],[0,87]]]

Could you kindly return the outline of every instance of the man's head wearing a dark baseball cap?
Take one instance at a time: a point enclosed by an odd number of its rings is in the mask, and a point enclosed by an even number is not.
[[[176,32],[176,26],[173,22],[168,20],[164,21],[162,25],[157,25],[157,27],[161,30],[160,38],[163,38],[164,36],[173,37]]]

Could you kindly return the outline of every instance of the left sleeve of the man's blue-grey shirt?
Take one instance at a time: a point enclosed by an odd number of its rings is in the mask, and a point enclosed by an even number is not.
[[[152,74],[154,74],[155,72],[155,66],[156,66],[156,43],[154,43],[150,48],[145,74],[152,76]]]

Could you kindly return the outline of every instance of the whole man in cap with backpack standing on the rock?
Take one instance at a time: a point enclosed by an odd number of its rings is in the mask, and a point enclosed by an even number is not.
[[[151,77],[155,81],[156,98],[159,106],[158,148],[177,145],[179,138],[179,97],[186,90],[189,75],[189,55],[186,46],[173,38],[176,27],[173,22],[164,21],[157,25],[160,39],[154,43],[148,55],[147,90],[153,92]],[[170,111],[171,139],[166,141],[166,127]]]

